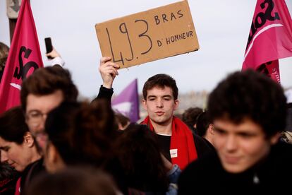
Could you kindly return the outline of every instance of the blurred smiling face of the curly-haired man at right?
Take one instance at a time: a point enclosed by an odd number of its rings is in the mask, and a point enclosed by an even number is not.
[[[267,138],[262,127],[250,119],[234,124],[227,119],[214,120],[214,147],[227,172],[239,173],[265,158],[278,135]]]

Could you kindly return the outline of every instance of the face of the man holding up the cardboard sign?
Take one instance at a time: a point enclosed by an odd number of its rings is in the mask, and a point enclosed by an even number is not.
[[[146,100],[142,102],[151,121],[160,125],[171,122],[174,110],[178,107],[178,100],[174,100],[172,89],[167,86],[147,90]]]

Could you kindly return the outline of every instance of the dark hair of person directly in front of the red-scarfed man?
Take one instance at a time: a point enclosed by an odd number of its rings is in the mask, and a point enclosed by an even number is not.
[[[167,170],[157,136],[144,124],[130,124],[116,143],[116,153],[128,187],[142,191],[167,191]]]

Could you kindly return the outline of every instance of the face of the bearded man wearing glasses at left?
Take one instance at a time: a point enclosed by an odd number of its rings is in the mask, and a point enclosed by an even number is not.
[[[63,93],[56,90],[49,95],[33,95],[29,94],[26,98],[26,123],[37,143],[41,148],[44,146],[44,124],[47,114],[58,107],[63,102]]]

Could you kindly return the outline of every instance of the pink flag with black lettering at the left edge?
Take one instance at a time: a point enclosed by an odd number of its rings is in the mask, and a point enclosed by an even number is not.
[[[0,113],[20,105],[23,79],[43,66],[30,1],[23,0],[0,83]]]

